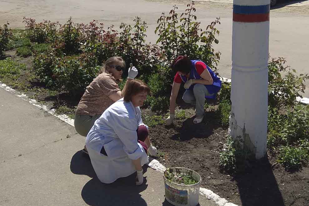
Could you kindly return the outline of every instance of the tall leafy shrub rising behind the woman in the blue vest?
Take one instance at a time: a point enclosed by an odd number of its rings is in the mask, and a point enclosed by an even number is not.
[[[215,53],[212,44],[219,43],[215,38],[215,35],[219,35],[219,30],[215,26],[220,24],[220,18],[216,18],[203,31],[200,22],[196,21],[197,17],[194,15],[196,9],[193,6],[194,2],[188,4],[188,8],[180,18],[176,6],[169,15],[162,13],[157,21],[158,27],[154,31],[158,32],[157,43],[160,43],[161,54],[169,66],[177,56],[185,55],[191,59],[204,61],[216,72],[221,53]]]

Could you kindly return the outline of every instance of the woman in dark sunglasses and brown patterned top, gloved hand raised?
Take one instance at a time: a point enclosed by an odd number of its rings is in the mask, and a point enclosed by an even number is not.
[[[75,112],[74,127],[78,134],[86,137],[102,113],[115,101],[124,97],[128,82],[138,74],[134,66],[129,68],[125,86],[120,91],[117,81],[120,81],[124,67],[125,61],[121,57],[110,57],[105,61],[99,75],[86,87]],[[141,124],[139,132],[148,134],[148,129],[144,124]],[[86,146],[83,152],[88,154]],[[151,155],[155,155],[156,148],[151,145],[149,152]]]

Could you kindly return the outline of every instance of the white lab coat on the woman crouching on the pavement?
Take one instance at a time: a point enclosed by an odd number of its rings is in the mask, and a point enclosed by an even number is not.
[[[144,148],[137,142],[139,125],[144,125],[140,108],[123,98],[110,105],[94,123],[86,147],[101,182],[112,183],[133,174],[136,169],[132,159],[140,158],[141,165],[148,163]],[[107,156],[101,154],[102,146]]]

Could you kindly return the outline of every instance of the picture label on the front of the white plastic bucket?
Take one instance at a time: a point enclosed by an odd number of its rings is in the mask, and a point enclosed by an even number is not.
[[[165,198],[177,204],[188,204],[188,191],[171,188],[165,183]]]

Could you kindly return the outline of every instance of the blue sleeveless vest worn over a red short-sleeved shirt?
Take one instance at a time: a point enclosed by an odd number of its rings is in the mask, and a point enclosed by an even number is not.
[[[191,65],[191,71],[190,71],[189,79],[202,79],[202,77],[199,76],[199,73],[196,71],[196,68],[195,68],[195,64],[198,61],[200,61],[200,60],[191,60],[192,65]],[[214,94],[214,95],[212,95],[212,96],[205,96],[205,98],[215,99],[216,98],[216,94],[221,89],[222,82],[220,81],[219,77],[217,75],[215,75],[215,73],[207,65],[206,65],[206,67],[207,67],[207,69],[209,71],[210,76],[213,78],[213,84],[212,85],[205,85],[205,87],[208,90],[209,94]],[[187,81],[187,77],[186,76],[182,76],[182,75],[180,75],[180,76],[181,76],[181,79],[182,79],[183,82]],[[189,89],[193,89],[193,87],[194,87],[194,84],[191,85],[189,87]]]

